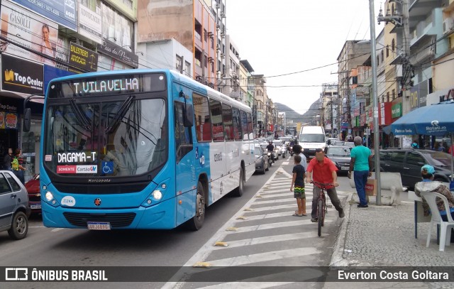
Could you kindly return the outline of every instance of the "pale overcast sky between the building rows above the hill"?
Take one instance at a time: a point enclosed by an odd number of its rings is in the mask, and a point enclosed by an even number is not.
[[[376,19],[382,3],[374,4]],[[322,83],[337,82],[331,72],[345,40],[370,39],[368,0],[226,0],[226,9],[240,58],[267,77],[273,102],[300,114],[319,98]],[[376,35],[383,27],[375,20]]]

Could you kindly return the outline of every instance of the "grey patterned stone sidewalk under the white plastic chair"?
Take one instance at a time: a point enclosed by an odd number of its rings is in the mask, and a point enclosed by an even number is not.
[[[354,189],[353,189],[354,190]],[[391,192],[382,191],[384,199]],[[345,219],[334,247],[330,266],[453,266],[454,246],[438,251],[436,229],[426,248],[429,223],[418,225],[414,238],[414,205],[402,200],[399,206],[377,206],[370,197],[369,208],[359,209],[358,195],[345,203]],[[383,200],[383,199],[382,199]],[[382,204],[386,204],[383,202]],[[434,226],[435,227],[435,226]],[[454,244],[453,244],[454,245]],[[454,283],[325,283],[323,288],[454,288]]]

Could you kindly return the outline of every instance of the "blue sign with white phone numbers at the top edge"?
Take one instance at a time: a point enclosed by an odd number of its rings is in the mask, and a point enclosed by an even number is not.
[[[31,11],[77,31],[76,0],[12,0]]]

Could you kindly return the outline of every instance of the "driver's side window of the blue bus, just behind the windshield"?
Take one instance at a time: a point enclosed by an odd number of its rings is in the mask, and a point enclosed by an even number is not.
[[[191,127],[185,127],[183,121],[183,106],[181,102],[175,102],[175,148],[177,154],[177,163],[192,151],[192,133]]]

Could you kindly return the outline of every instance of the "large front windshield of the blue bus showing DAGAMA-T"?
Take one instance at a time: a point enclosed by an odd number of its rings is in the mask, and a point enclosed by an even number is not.
[[[148,173],[167,160],[164,99],[50,105],[44,165],[60,176],[115,177]]]

